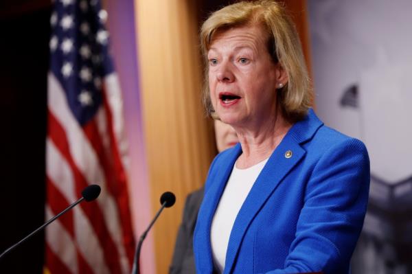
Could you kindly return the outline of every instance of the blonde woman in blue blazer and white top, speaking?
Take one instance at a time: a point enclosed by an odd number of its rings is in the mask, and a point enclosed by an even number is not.
[[[240,144],[211,163],[196,222],[198,273],[350,272],[369,191],[361,141],[310,109],[299,39],[274,1],[229,5],[201,30],[207,110]]]

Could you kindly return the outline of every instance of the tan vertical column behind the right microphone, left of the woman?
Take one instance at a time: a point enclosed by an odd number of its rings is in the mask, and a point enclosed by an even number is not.
[[[154,227],[157,273],[168,273],[185,197],[203,185],[215,154],[211,124],[201,106],[198,23],[190,5],[135,1],[153,214],[163,192],[176,194],[176,205],[165,209]]]

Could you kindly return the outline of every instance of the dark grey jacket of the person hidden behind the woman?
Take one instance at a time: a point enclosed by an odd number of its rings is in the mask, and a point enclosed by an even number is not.
[[[183,220],[177,233],[176,244],[170,274],[194,274],[193,233],[196,218],[203,200],[204,187],[187,195],[185,208],[183,209]]]

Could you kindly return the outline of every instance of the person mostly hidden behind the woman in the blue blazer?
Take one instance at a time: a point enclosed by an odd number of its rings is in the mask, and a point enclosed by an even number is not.
[[[214,120],[214,131],[218,152],[231,148],[238,143],[238,136],[235,130],[218,119]],[[203,191],[204,189],[201,187],[201,189],[187,195],[185,208],[183,209],[183,219],[177,233],[176,244],[174,245],[172,264],[169,268],[170,274],[196,273],[193,254],[193,232],[199,207],[201,207],[203,200]]]

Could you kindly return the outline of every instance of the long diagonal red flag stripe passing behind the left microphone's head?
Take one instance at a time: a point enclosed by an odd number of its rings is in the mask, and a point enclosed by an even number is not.
[[[51,111],[48,112],[49,115],[49,138],[52,139],[56,148],[60,150],[62,157],[65,158],[69,164],[71,171],[73,172],[73,179],[75,181],[76,193],[80,196],[80,193],[87,187],[87,181],[84,179],[84,176],[78,170],[76,163],[74,163],[73,158],[71,157],[69,142],[65,134],[64,128],[59,124],[56,117],[54,117]],[[97,183],[97,182],[96,182]],[[52,201],[51,201],[52,202]],[[81,203],[84,214],[89,216],[90,223],[95,231],[96,236],[99,239],[100,246],[103,249],[105,262],[110,269],[111,273],[122,273],[120,262],[119,262],[119,252],[113,239],[111,238],[110,233],[104,222],[104,216],[98,203]]]

